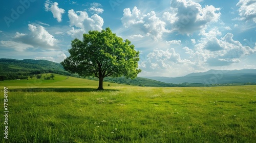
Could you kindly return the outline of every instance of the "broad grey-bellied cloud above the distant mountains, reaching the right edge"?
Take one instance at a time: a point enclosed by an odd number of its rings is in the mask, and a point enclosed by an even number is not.
[[[195,60],[202,65],[223,66],[240,62],[240,58],[256,53],[256,47],[243,46],[239,41],[233,40],[233,34],[227,33],[224,37],[205,37],[199,40],[195,49],[184,47],[190,55],[190,60]]]

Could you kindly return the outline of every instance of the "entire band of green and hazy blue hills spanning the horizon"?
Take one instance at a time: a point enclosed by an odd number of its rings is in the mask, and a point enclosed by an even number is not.
[[[45,73],[79,77],[66,71],[59,63],[47,60],[0,59],[0,81],[25,79]],[[98,78],[86,77],[90,81]],[[93,81],[92,81],[93,82]],[[104,78],[104,82],[134,86],[174,87],[174,86],[208,86],[226,83],[256,83],[256,69],[241,70],[208,70],[203,73],[191,73],[184,77],[137,77],[134,80],[124,77]],[[228,85],[228,84],[226,84]],[[219,86],[219,85],[218,85]]]

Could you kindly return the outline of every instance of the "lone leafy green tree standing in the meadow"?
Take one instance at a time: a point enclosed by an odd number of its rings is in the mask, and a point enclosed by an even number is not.
[[[99,78],[98,90],[103,90],[105,77],[134,79],[141,72],[138,69],[139,52],[129,40],[112,33],[110,28],[89,31],[83,40],[74,39],[69,49],[70,56],[61,62],[70,73],[79,76]]]

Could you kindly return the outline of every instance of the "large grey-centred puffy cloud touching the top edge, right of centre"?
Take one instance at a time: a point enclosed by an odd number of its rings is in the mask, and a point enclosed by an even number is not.
[[[172,12],[165,16],[173,27],[174,31],[181,34],[191,34],[195,31],[202,30],[210,22],[219,20],[221,13],[220,8],[206,5],[204,8],[193,1],[173,0],[171,3]]]

